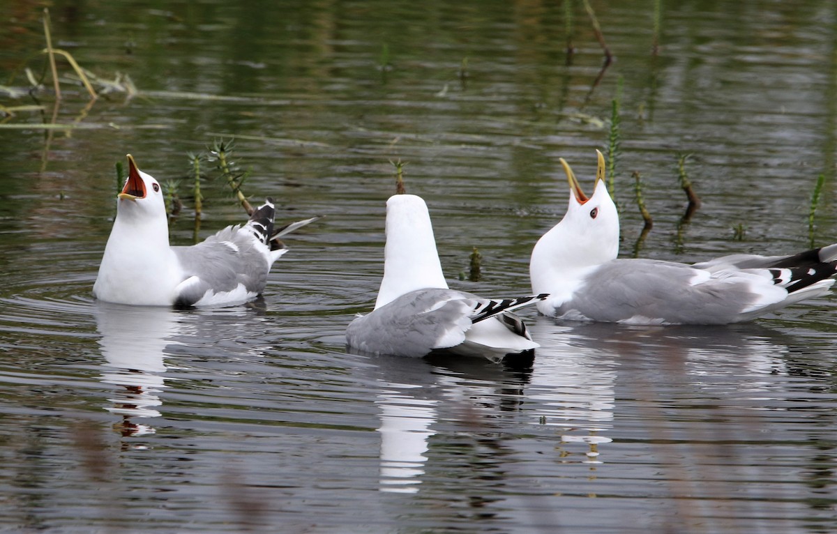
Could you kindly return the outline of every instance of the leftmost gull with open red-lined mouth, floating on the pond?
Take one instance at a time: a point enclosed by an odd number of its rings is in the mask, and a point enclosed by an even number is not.
[[[318,217],[274,233],[270,198],[244,225],[223,228],[203,243],[171,246],[159,182],[136,167],[116,198],[116,219],[93,285],[98,300],[136,306],[235,306],[258,296],[270,266],[288,249],[277,240]]]

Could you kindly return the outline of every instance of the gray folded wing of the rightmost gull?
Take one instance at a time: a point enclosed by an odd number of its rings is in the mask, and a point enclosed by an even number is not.
[[[754,289],[757,275],[742,274],[741,280],[708,275],[686,264],[614,259],[588,275],[557,315],[578,312],[609,322],[727,324],[741,321],[742,311],[763,298]],[[708,280],[696,284],[696,277]],[[768,282],[765,287],[773,285]]]

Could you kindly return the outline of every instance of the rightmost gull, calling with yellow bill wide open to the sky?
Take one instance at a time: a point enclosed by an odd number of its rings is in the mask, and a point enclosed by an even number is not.
[[[598,152],[598,151],[597,151]],[[567,213],[537,241],[529,274],[546,316],[629,324],[729,324],[827,295],[837,244],[793,255],[732,254],[697,264],[617,259],[619,213],[598,152],[593,195],[560,160],[570,184]]]

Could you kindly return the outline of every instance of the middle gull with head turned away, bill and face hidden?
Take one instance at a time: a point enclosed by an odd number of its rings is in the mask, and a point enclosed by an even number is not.
[[[374,310],[347,327],[352,351],[406,357],[445,351],[500,361],[539,347],[510,311],[547,295],[492,300],[449,289],[427,204],[416,195],[389,198],[386,226],[383,280]]]

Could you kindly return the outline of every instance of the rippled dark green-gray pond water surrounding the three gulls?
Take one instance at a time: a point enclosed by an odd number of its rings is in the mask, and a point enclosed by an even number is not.
[[[525,294],[567,202],[557,159],[592,185],[620,84],[624,256],[804,249],[820,173],[814,241],[837,240],[832,3],[665,5],[656,56],[650,3],[592,4],[603,74],[581,5],[567,64],[559,2],[50,3],[56,45],[139,93],[85,108],[67,83],[57,121],[77,129],[0,130],[0,529],[837,530],[834,297],[725,327],[526,311],[531,367],[345,351],[380,280],[390,161],[451,285]],[[41,7],[9,6],[4,73],[43,48]],[[39,100],[7,122],[49,120]],[[234,137],[246,193],[326,215],[289,237],[264,299],[95,302],[115,162],[186,178],[187,152]],[[687,153],[703,204],[683,223]],[[655,217],[640,244],[634,171]],[[243,218],[223,187],[203,183],[202,237]],[[484,278],[458,280],[475,246]]]

